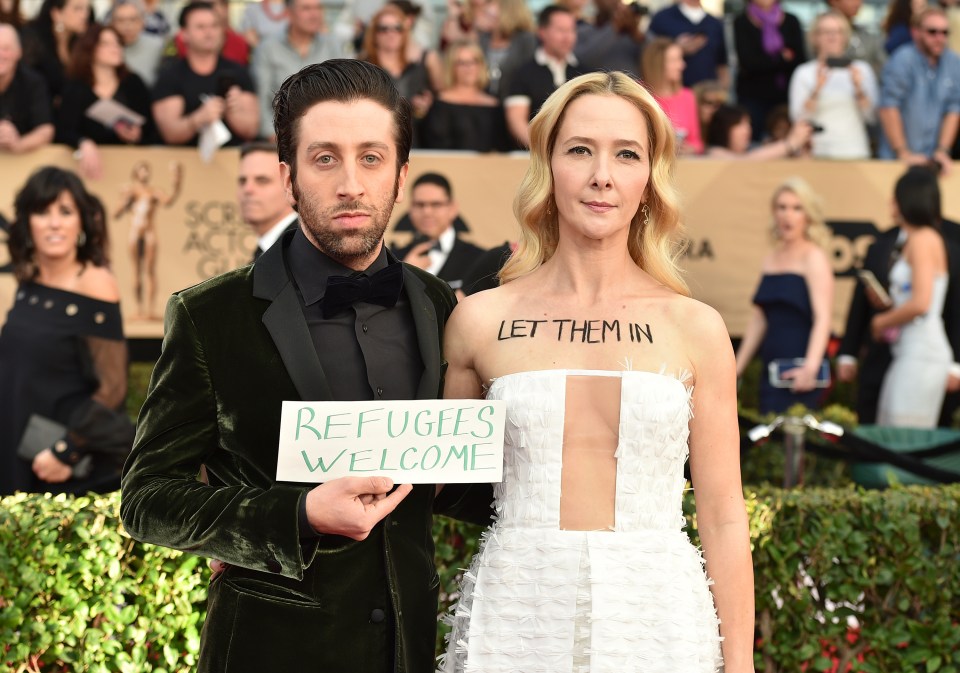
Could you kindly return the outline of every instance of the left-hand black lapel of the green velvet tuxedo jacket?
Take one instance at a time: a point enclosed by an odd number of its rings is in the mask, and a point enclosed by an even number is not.
[[[263,324],[297,392],[311,402],[329,400],[333,397],[330,385],[317,358],[297,290],[287,275],[284,249],[291,237],[292,234],[284,233],[277,244],[257,260],[253,270],[253,295],[271,302],[264,311]]]

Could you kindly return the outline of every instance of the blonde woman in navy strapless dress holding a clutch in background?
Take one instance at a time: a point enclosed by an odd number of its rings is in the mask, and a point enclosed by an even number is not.
[[[737,351],[742,376],[759,350],[760,412],[818,406],[833,308],[833,269],[821,247],[829,237],[820,199],[800,178],[771,200],[773,250],[763,259],[753,312]]]

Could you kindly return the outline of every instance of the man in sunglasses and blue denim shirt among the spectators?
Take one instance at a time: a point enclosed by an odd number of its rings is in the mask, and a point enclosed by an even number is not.
[[[880,78],[881,159],[950,171],[960,123],[960,56],[947,48],[947,16],[938,7],[917,14],[913,43],[898,49]]]

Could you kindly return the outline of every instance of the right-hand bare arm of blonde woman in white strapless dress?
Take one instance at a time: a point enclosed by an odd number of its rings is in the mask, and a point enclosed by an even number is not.
[[[690,474],[697,529],[723,637],[726,673],[753,672],[753,563],[740,483],[733,353],[723,319],[700,305],[690,342],[695,369]]]

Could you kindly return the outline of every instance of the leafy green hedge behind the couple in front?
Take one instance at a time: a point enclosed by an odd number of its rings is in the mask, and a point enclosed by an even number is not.
[[[960,673],[958,503],[956,485],[748,492],[757,670]],[[0,668],[194,670],[206,564],[133,542],[117,508],[0,499]],[[434,533],[443,611],[479,529],[438,518]]]

